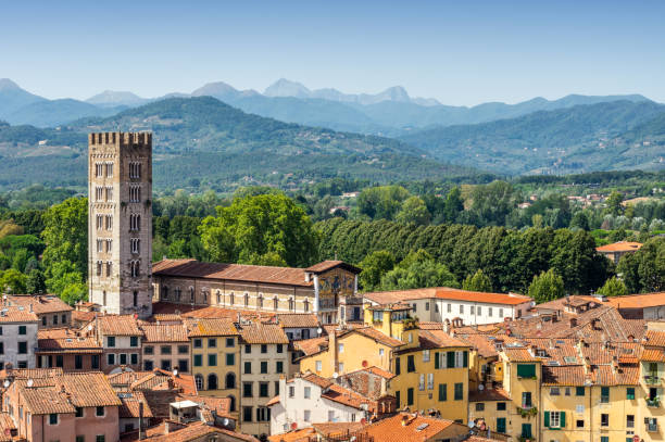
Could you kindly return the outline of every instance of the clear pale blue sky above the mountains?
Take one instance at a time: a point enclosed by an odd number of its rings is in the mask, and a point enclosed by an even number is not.
[[[12,4],[13,3],[13,4]],[[0,77],[47,98],[279,77],[447,104],[665,102],[664,1],[3,1]]]

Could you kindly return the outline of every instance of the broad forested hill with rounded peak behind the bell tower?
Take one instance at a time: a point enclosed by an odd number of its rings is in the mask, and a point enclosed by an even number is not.
[[[154,132],[158,189],[201,182],[221,190],[239,184],[288,187],[335,176],[387,182],[474,174],[401,141],[287,124],[199,97],[156,101],[59,129],[0,126],[0,185],[59,179],[84,185],[86,134],[118,129]],[[26,174],[36,169],[39,174]]]

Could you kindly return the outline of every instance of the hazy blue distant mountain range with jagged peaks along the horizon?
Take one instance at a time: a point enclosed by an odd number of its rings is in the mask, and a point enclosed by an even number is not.
[[[300,83],[279,79],[263,93],[238,90],[222,81],[206,84],[191,93],[174,92],[147,99],[128,91],[105,90],[86,101],[47,100],[0,79],[0,119],[37,127],[59,126],[85,116],[110,116],[165,98],[214,97],[244,112],[286,123],[327,127],[341,131],[399,137],[430,126],[451,126],[514,118],[537,111],[567,109],[616,100],[649,101],[633,96],[567,96],[559,100],[535,98],[517,104],[484,103],[451,106],[435,99],[411,98],[400,86],[371,94],[349,94],[336,89],[310,90]]]

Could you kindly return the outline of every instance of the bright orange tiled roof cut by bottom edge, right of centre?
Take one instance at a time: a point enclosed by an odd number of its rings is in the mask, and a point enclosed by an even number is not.
[[[402,425],[402,419],[409,419],[406,425]],[[427,425],[423,428],[423,425]],[[450,426],[460,425],[454,424],[452,420],[435,419],[431,417],[425,417],[411,415],[409,413],[399,413],[393,417],[379,420],[376,424],[372,424],[362,433],[366,433],[374,438],[375,441],[381,442],[418,442],[429,441],[441,431],[446,430]],[[460,427],[463,427],[460,425]],[[418,430],[421,428],[421,430]],[[461,428],[461,432],[467,432],[467,429]]]

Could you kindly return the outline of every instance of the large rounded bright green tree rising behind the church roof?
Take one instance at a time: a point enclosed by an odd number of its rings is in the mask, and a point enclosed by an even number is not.
[[[217,207],[216,217],[203,219],[199,232],[216,262],[251,263],[274,253],[287,265],[309,266],[317,258],[310,217],[283,193],[235,199],[228,207]]]

